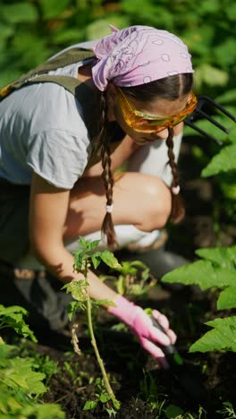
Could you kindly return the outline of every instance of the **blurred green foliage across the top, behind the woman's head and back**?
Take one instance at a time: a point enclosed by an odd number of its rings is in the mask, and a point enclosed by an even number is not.
[[[189,46],[197,92],[214,97],[235,80],[236,3],[232,0],[1,0],[0,85],[63,47],[133,24],[170,30]]]

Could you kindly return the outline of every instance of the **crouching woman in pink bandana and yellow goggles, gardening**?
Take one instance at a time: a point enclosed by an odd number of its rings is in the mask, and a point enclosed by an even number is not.
[[[102,229],[103,245],[142,247],[156,241],[170,216],[182,218],[174,152],[182,121],[196,107],[192,73],[188,49],[173,34],[145,26],[113,28],[93,43],[88,59],[48,72],[79,80],[86,87],[83,103],[80,89],[74,97],[48,82],[26,85],[2,100],[0,259],[15,268],[15,278],[2,281],[1,302],[4,295],[13,297],[14,286],[31,312],[37,310],[52,329],[62,327],[65,301],[62,312],[55,281],[21,276],[29,252],[67,283],[81,278],[71,252],[80,235],[97,238]],[[114,175],[123,162],[127,171]],[[160,312],[153,315],[165,334],[93,272],[89,295],[114,302],[108,312],[166,366],[158,343],[176,337]]]

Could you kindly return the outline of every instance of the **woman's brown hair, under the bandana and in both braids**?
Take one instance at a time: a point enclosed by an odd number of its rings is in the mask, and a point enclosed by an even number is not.
[[[147,84],[140,86],[134,86],[129,88],[122,88],[125,95],[135,98],[142,102],[151,102],[152,99],[163,98],[167,100],[176,100],[182,96],[187,95],[192,90],[193,77],[192,73],[182,73],[165,77],[164,79],[151,81]],[[113,185],[114,178],[111,171],[111,158],[110,158],[110,147],[109,140],[111,138],[110,124],[107,121],[107,104],[105,98],[105,92],[101,94],[100,99],[100,123],[99,123],[99,134],[97,141],[101,148],[101,158],[103,166],[103,181],[105,184],[105,196],[106,205],[112,205],[113,203]],[[168,147],[168,164],[172,169],[173,184],[172,186],[179,185],[179,174],[178,167],[175,162],[173,154],[173,128],[168,129],[168,138],[166,140]],[[174,195],[172,192],[172,216],[173,222],[177,223],[184,217],[185,209],[181,197]],[[102,226],[102,233],[106,235],[107,244],[113,245],[116,243],[114,224],[111,213],[106,212]]]

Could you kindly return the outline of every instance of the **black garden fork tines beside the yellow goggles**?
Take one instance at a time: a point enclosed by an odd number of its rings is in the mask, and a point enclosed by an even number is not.
[[[223,126],[222,124],[219,124],[217,121],[215,121],[215,119],[211,115],[206,114],[206,112],[204,110],[202,110],[202,107],[204,105],[207,105],[207,104],[213,105],[213,107],[216,107],[217,109],[219,109],[224,115],[227,115],[229,118],[231,118],[232,121],[234,121],[234,122],[236,121],[236,117],[233,116],[230,112],[228,112],[224,107],[222,107],[221,105],[216,103],[215,100],[213,100],[212,98],[208,98],[207,96],[199,96],[198,97],[198,105],[197,105],[196,109],[192,112],[192,114],[190,114],[184,120],[184,123],[186,125],[190,126],[191,128],[193,128],[195,131],[198,131],[198,133],[201,133],[202,135],[206,136],[210,140],[213,140],[213,141],[217,142],[218,144],[222,144],[222,141],[217,140],[215,137],[213,137],[209,133],[206,133],[206,131],[199,128],[198,125],[193,124],[193,121],[198,119],[198,115],[200,115],[200,116],[203,116],[204,118],[206,118],[209,122],[211,122],[215,126],[217,126],[224,133],[229,133],[229,130],[227,128],[225,128],[225,126]]]

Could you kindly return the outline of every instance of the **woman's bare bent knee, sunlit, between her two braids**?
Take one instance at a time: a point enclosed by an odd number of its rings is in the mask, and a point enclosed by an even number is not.
[[[144,216],[139,228],[145,231],[163,228],[172,210],[172,195],[169,187],[160,178],[149,176],[142,205],[144,205]]]

